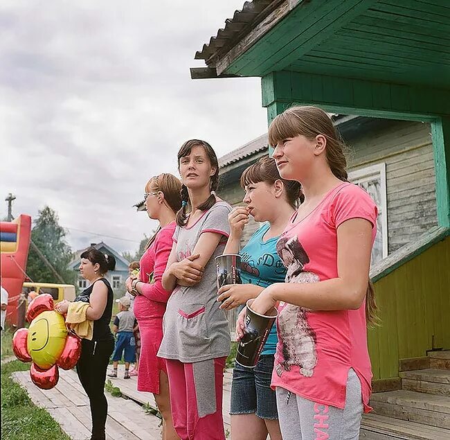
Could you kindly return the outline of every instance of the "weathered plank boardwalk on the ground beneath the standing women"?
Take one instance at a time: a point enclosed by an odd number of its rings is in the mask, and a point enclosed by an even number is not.
[[[233,370],[228,369],[224,376],[224,428],[230,439],[231,378]],[[86,394],[82,389],[75,371],[60,370],[58,385],[49,390],[37,388],[30,380],[28,371],[12,374],[38,406],[44,407],[60,423],[62,430],[73,440],[86,440],[90,437],[91,414]],[[151,393],[137,391],[136,377],[123,379],[123,365],[119,365],[118,378],[109,379],[115,387],[120,388],[123,397],[113,397],[106,393],[108,399],[107,439],[109,440],[159,440],[161,439],[161,420],[143,410],[142,405],[156,409]],[[377,414],[363,416],[361,440],[388,439],[427,439],[434,440],[435,430],[398,419],[391,419]]]

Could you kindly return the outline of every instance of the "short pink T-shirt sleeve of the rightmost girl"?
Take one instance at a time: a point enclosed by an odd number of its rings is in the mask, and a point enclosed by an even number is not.
[[[333,197],[330,206],[331,221],[336,229],[346,220],[363,218],[377,225],[378,208],[372,197],[357,185],[344,186]]]

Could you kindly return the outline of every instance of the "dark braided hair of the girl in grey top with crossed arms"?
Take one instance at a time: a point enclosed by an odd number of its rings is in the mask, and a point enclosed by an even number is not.
[[[215,205],[216,202],[215,191],[217,191],[217,186],[219,186],[219,161],[217,160],[217,156],[215,155],[213,147],[211,147],[208,142],[201,141],[199,139],[191,139],[190,141],[186,141],[181,146],[177,155],[178,169],[180,169],[180,159],[182,157],[190,155],[192,148],[197,146],[204,148],[206,156],[208,156],[211,166],[215,167],[215,173],[210,178],[210,191],[212,191],[211,195],[200,206],[195,206],[195,208],[199,209],[200,211],[208,211],[208,209],[211,209]],[[177,213],[177,225],[179,227],[183,227],[184,225],[186,225],[186,221],[188,220],[188,214],[186,211],[188,208],[188,204],[190,204],[190,200],[188,187],[186,185],[181,185],[181,201],[182,206]]]

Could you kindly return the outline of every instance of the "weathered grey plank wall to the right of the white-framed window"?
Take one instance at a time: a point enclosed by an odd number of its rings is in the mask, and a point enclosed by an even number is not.
[[[389,253],[438,225],[430,132],[429,123],[384,121],[345,139],[349,170],[386,163]]]

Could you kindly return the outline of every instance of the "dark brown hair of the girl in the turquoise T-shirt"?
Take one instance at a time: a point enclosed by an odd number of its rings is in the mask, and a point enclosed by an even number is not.
[[[296,209],[298,207],[298,200],[300,199],[301,185],[296,180],[282,179],[273,157],[261,157],[258,162],[246,168],[244,173],[242,173],[240,184],[242,188],[249,184],[258,184],[259,182],[273,185],[276,180],[282,182],[285,187],[287,202]]]

